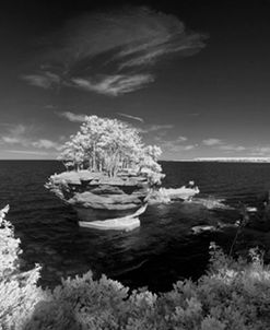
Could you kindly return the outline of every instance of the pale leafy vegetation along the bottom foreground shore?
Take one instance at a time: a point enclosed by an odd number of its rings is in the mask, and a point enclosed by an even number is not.
[[[0,329],[270,329],[270,269],[257,249],[233,260],[214,244],[210,268],[198,282],[171,292],[130,292],[92,272],[62,280],[54,291],[36,285],[40,268],[20,271],[20,240],[0,211]]]

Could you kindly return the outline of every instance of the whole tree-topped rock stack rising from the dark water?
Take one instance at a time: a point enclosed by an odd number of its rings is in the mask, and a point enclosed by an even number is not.
[[[164,176],[160,154],[127,123],[86,117],[62,148],[67,170],[50,176],[46,188],[75,210],[81,226],[130,231],[140,225],[150,192]]]

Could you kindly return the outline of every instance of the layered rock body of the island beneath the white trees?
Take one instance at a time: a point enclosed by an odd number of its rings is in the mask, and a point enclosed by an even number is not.
[[[110,178],[89,170],[64,172],[50,176],[46,188],[71,205],[81,221],[132,217],[146,203],[146,177],[119,174]]]

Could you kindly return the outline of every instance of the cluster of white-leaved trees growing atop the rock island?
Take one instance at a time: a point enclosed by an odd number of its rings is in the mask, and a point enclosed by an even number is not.
[[[89,168],[114,177],[120,170],[161,174],[159,146],[145,146],[139,131],[128,123],[109,118],[86,116],[79,132],[62,146],[59,156],[66,166]],[[151,175],[152,175],[151,174]],[[160,176],[161,178],[162,176]]]

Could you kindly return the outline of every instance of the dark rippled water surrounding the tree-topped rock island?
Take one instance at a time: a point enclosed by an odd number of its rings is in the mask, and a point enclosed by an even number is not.
[[[0,207],[10,204],[8,219],[22,240],[24,268],[43,266],[42,285],[54,286],[61,276],[92,270],[131,287],[148,285],[165,291],[183,278],[197,279],[209,259],[209,243],[230,249],[235,228],[192,235],[190,228],[239,219],[237,203],[260,205],[270,189],[270,164],[163,163],[165,187],[180,187],[189,179],[199,186],[200,198],[225,199],[235,210],[208,210],[199,204],[175,202],[152,205],[130,233],[80,228],[77,215],[44,188],[47,178],[62,172],[55,161],[1,161]],[[270,247],[270,234],[247,228],[237,249]],[[266,254],[267,260],[269,255]]]

